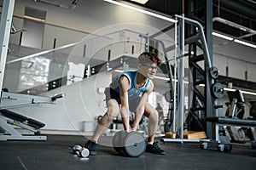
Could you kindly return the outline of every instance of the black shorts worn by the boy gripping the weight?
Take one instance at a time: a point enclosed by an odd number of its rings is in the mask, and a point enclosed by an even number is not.
[[[114,91],[112,88],[105,88],[105,93],[106,95],[106,104],[108,105],[108,100],[109,99],[115,99],[119,105],[121,105],[121,99],[119,94]],[[139,105],[140,102],[140,97],[137,97],[136,99],[129,99],[129,110],[131,112],[136,112],[137,110],[137,105]]]

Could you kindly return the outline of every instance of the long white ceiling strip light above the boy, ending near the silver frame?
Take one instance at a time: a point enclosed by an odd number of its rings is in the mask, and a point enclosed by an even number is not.
[[[127,5],[127,4],[125,4],[125,3],[119,3],[119,2],[113,1],[113,0],[104,0],[104,1],[105,1],[105,2],[108,2],[108,3],[113,3],[113,4],[116,4],[116,5],[125,7],[125,8],[130,8],[131,10],[135,10],[135,11],[140,12],[140,13],[143,13],[143,14],[148,14],[148,15],[154,16],[154,17],[159,18],[159,19],[162,19],[162,20],[167,20],[167,21],[170,21],[170,22],[177,22],[177,20],[173,20],[173,19],[171,19],[170,17],[166,17],[166,16],[161,15],[161,14],[155,14],[155,13],[153,13],[153,12],[144,10],[144,9],[142,9],[142,8],[136,8],[136,7]]]

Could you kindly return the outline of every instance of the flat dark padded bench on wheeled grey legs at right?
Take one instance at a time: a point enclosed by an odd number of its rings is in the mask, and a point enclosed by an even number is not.
[[[213,140],[209,142],[201,142],[201,148],[217,148],[220,151],[229,151],[232,150],[232,145],[230,144],[230,139],[227,136],[219,135],[220,126],[233,126],[233,127],[256,127],[255,120],[244,120],[238,118],[229,118],[221,116],[212,116],[206,118],[207,122],[212,122],[212,134]],[[252,143],[252,147],[255,147],[255,141]]]

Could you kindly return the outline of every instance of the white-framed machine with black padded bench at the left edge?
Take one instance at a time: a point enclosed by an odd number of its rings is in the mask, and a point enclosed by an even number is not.
[[[48,98],[14,94],[3,90],[0,100],[0,140],[46,140],[46,136],[38,135],[40,133],[38,129],[45,126],[43,122],[22,116],[9,109],[25,105],[55,104],[56,100],[62,97],[64,97],[63,94]]]

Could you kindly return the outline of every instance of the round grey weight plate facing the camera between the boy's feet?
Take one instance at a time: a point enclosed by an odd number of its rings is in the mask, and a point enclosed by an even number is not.
[[[125,152],[128,156],[141,156],[146,150],[146,140],[141,133],[131,132],[125,138]]]

